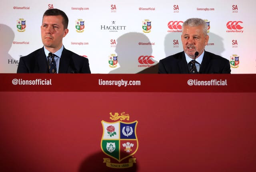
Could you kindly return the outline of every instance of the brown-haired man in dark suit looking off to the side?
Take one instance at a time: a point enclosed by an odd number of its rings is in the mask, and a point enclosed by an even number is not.
[[[68,17],[58,9],[46,10],[41,26],[43,48],[21,57],[17,73],[91,73],[88,59],[64,48]]]

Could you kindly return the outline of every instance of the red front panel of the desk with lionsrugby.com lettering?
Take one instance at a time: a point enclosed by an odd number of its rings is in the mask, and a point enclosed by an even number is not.
[[[256,75],[0,78],[1,172],[256,170]],[[28,85],[14,85],[14,79]],[[52,85],[29,84],[36,79],[51,79]],[[99,79],[140,85],[99,85]],[[227,85],[190,86],[188,80]],[[115,142],[117,154],[110,156],[102,140]],[[127,142],[136,144],[128,148]]]

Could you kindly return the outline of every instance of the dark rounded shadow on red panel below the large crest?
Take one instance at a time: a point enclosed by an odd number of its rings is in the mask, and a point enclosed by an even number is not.
[[[136,172],[138,170],[138,162],[133,163],[132,167],[129,168],[110,168],[106,166],[106,163],[103,163],[103,158],[109,158],[103,152],[98,152],[92,154],[85,158],[85,160],[81,163],[78,172]],[[128,159],[125,159],[121,162],[118,162],[114,159],[110,159],[111,163],[123,164],[127,163]]]

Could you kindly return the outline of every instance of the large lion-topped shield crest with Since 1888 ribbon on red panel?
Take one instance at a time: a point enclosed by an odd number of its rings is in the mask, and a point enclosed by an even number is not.
[[[101,121],[103,134],[101,149],[106,154],[103,163],[110,168],[129,168],[136,163],[133,155],[138,150],[136,128],[138,121],[128,122],[129,114],[110,112],[112,122]],[[117,161],[117,162],[116,162]]]

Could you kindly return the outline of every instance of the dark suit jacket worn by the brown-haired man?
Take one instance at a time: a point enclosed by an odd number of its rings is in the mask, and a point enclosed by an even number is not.
[[[20,58],[17,73],[46,73],[46,64],[44,48],[40,48]],[[58,73],[90,74],[88,59],[64,48],[60,57]]]

